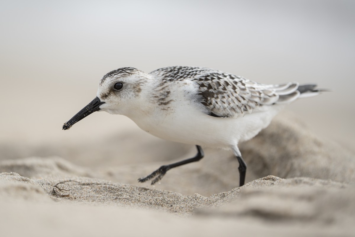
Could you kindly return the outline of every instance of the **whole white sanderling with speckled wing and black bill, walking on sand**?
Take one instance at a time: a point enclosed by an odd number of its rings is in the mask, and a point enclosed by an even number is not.
[[[120,68],[100,80],[97,97],[63,125],[69,129],[95,111],[122,114],[158,138],[193,144],[195,157],[161,166],[144,178],[156,183],[171,168],[201,160],[201,146],[231,149],[239,161],[240,186],[246,164],[238,142],[266,128],[286,104],[315,96],[316,85],[265,85],[223,71],[173,66],[149,74]]]

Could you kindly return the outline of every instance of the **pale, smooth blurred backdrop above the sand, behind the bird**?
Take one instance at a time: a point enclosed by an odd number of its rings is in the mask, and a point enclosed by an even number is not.
[[[0,143],[99,147],[144,133],[104,112],[61,127],[111,70],[186,65],[331,89],[287,109],[355,151],[354,23],[355,1],[1,1]]]

